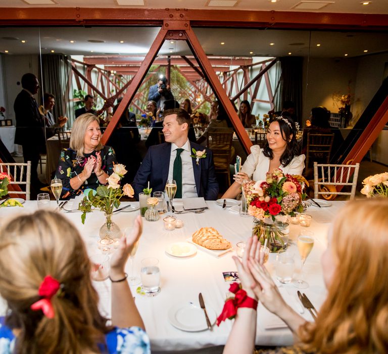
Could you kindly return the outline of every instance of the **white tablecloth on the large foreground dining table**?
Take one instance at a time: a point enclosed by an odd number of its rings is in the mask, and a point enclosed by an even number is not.
[[[55,202],[51,202],[53,209]],[[189,350],[215,345],[223,345],[226,342],[232,321],[223,322],[220,327],[215,326],[213,331],[183,332],[174,328],[167,319],[169,308],[178,302],[192,301],[198,304],[198,294],[202,292],[205,303],[215,309],[220,314],[224,304],[225,295],[230,283],[223,279],[222,272],[236,271],[233,259],[235,252],[229,252],[224,256],[216,258],[210,254],[198,250],[197,254],[188,258],[175,258],[165,252],[165,247],[171,242],[185,241],[193,232],[201,227],[215,227],[221,235],[228,239],[233,246],[239,241],[245,241],[251,235],[252,218],[240,217],[233,214],[228,209],[222,209],[215,202],[207,202],[209,210],[201,214],[179,215],[184,222],[182,229],[165,231],[163,220],[157,222],[143,222],[143,235],[135,257],[135,270],[139,275],[140,262],[144,257],[157,257],[161,270],[161,293],[156,297],[143,297],[136,294],[137,286],[132,287],[136,296],[136,305],[139,309],[147,333],[151,338],[153,351],[169,350]],[[329,224],[319,224],[315,218],[320,215],[320,222],[326,223],[332,215],[344,206],[345,202],[333,202],[330,207],[320,208],[309,207],[308,213],[313,215],[313,221],[309,230],[314,232],[315,244],[304,268],[304,279],[308,281],[310,287],[304,292],[318,309],[322,304],[326,290],[322,279],[320,265],[321,254],[326,247],[326,234]],[[128,203],[122,203],[126,205]],[[131,203],[133,204],[133,203]],[[5,216],[22,212],[31,212],[36,209],[36,201],[28,201],[22,208],[1,208],[0,223],[4,223]],[[63,213],[63,212],[62,212]],[[86,216],[85,225],[81,224],[81,213],[63,213],[69,218],[82,235],[89,254],[98,252],[96,242],[99,239],[98,231],[104,223],[104,215],[94,211]],[[121,230],[133,224],[134,217],[138,211],[118,212],[113,216],[113,220],[119,225]],[[315,215],[315,216],[314,216]],[[326,215],[328,217],[326,217]],[[290,226],[290,238],[296,239],[301,227]],[[289,246],[295,253],[297,269],[300,269],[300,258],[295,244]],[[267,268],[274,272],[274,261],[276,254],[271,254]],[[126,272],[129,273],[129,267]],[[299,274],[295,274],[296,277]],[[94,282],[101,297],[101,308],[103,312],[110,316],[110,281]],[[282,285],[282,292],[288,295],[286,301],[294,308],[296,304],[297,289],[292,284]],[[1,308],[4,313],[4,305]],[[307,320],[312,320],[308,311],[304,316]],[[258,329],[256,343],[261,345],[287,345],[291,344],[292,333],[284,329],[265,330],[265,325],[272,322],[273,315],[269,315],[263,308],[258,309]]]

